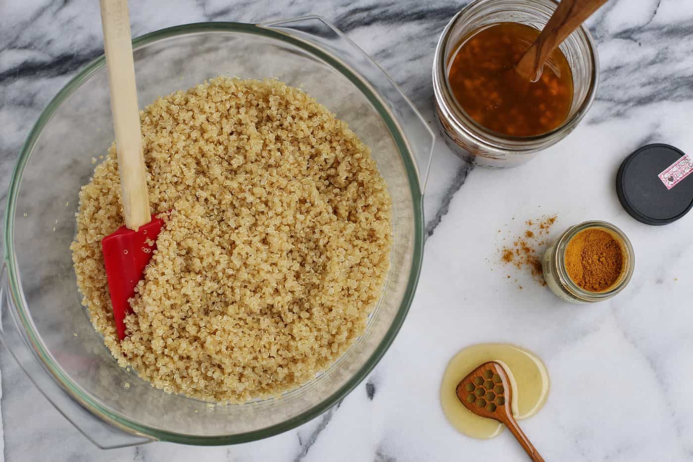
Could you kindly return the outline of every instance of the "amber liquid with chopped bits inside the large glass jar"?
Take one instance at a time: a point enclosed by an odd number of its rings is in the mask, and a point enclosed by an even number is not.
[[[457,103],[480,126],[531,137],[558,128],[568,117],[572,74],[560,49],[551,53],[536,82],[513,69],[538,35],[531,26],[501,22],[462,40],[448,65],[448,81]]]

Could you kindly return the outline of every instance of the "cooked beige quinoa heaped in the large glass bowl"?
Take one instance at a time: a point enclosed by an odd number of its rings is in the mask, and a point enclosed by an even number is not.
[[[80,191],[72,243],[94,327],[157,388],[245,402],[313,379],[365,330],[392,246],[369,148],[300,89],[218,77],[141,112],[166,225],[118,340],[100,241],[123,224],[116,149]]]

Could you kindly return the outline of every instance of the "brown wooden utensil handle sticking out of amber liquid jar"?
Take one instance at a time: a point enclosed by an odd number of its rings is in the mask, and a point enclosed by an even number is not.
[[[556,46],[577,29],[607,0],[561,0],[532,47],[518,61],[515,68],[527,80],[534,80],[538,69]]]

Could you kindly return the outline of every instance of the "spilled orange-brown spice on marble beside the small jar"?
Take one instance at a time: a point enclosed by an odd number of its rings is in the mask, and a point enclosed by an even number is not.
[[[527,228],[512,241],[512,245],[500,249],[501,262],[528,273],[535,282],[545,286],[541,257],[548,246],[547,235],[556,218],[552,215],[525,221]]]

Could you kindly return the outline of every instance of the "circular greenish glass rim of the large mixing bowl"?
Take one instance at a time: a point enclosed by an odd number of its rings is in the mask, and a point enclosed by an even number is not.
[[[309,18],[322,19],[315,16],[297,19]],[[324,19],[322,20],[324,21]],[[409,148],[406,137],[403,135],[403,130],[400,124],[392,115],[392,111],[387,108],[385,103],[383,103],[378,91],[360,77],[358,71],[351,69],[351,67],[342,62],[340,58],[326,51],[325,49],[321,49],[315,44],[312,44],[306,40],[301,40],[295,36],[289,35],[288,33],[283,33],[281,31],[262,26],[261,24],[239,22],[198,22],[182,24],[141,35],[132,40],[132,45],[133,49],[137,49],[141,46],[146,46],[159,40],[166,40],[172,37],[214,32],[245,33],[248,35],[259,35],[261,37],[279,40],[280,42],[287,42],[288,44],[297,46],[298,48],[308,52],[310,55],[317,57],[321,62],[326,63],[326,65],[332,67],[335,71],[340,72],[342,76],[346,77],[358,88],[358,90],[368,99],[371,105],[374,106],[378,114],[380,114],[380,117],[383,119],[383,123],[385,123],[387,126],[387,129],[396,144],[397,151],[400,154],[401,160],[405,166],[407,180],[413,199],[414,238],[412,266],[407,279],[407,289],[403,294],[402,302],[398,311],[396,312],[392,324],[388,327],[387,332],[385,332],[385,336],[383,336],[383,339],[377,345],[374,352],[371,353],[365,364],[353,375],[353,377],[347,380],[345,384],[335,391],[335,393],[322,400],[322,402],[315,404],[315,406],[310,407],[299,415],[283,422],[270,425],[269,427],[263,427],[261,429],[231,435],[199,436],[182,434],[175,431],[151,427],[149,425],[142,425],[139,422],[130,420],[130,418],[124,416],[118,411],[114,411],[101,404],[98,399],[92,397],[89,393],[84,391],[62,371],[62,368],[58,366],[58,363],[53,361],[51,353],[44,346],[40,335],[37,333],[37,330],[35,330],[33,320],[29,314],[28,304],[24,299],[24,291],[22,289],[21,282],[19,282],[19,271],[17,268],[17,257],[14,246],[14,216],[16,201],[19,195],[19,187],[21,185],[21,177],[37,139],[40,137],[46,123],[51,120],[55,110],[60,107],[63,101],[71,96],[71,94],[73,94],[73,92],[75,92],[76,89],[82,85],[82,83],[85,83],[86,80],[93,76],[96,71],[105,67],[105,56],[101,54],[82,67],[82,69],[78,71],[78,74],[71,78],[71,80],[69,80],[69,82],[65,84],[62,89],[60,89],[58,94],[51,99],[49,104],[46,105],[46,108],[42,110],[40,117],[31,128],[26,141],[21,147],[19,157],[15,163],[15,168],[12,170],[5,209],[5,250],[3,255],[3,263],[8,271],[9,295],[12,297],[12,300],[16,305],[14,307],[7,307],[7,309],[14,309],[16,311],[19,318],[18,322],[21,323],[21,328],[24,331],[23,334],[26,334],[28,337],[26,340],[28,340],[30,346],[33,348],[34,356],[40,359],[44,369],[51,374],[51,378],[63,389],[63,391],[68,393],[74,401],[78,402],[78,404],[87,409],[91,414],[96,416],[96,418],[99,418],[100,420],[103,420],[116,428],[124,429],[131,434],[140,434],[155,438],[156,440],[165,440],[173,443],[183,443],[189,445],[229,445],[246,443],[248,441],[274,436],[298,427],[299,425],[308,422],[308,420],[312,420],[342,400],[342,398],[351,392],[353,388],[356,388],[356,386],[367,377],[371,370],[373,370],[373,368],[376,366],[378,361],[380,361],[380,359],[383,357],[389,346],[392,344],[392,341],[394,341],[394,337],[400,330],[400,327],[412,303],[414,292],[416,291],[416,285],[419,281],[421,263],[423,260],[423,194],[421,192],[421,187],[419,186],[419,178],[416,173],[416,166],[414,165],[413,153]],[[240,405],[242,406],[243,404]]]

